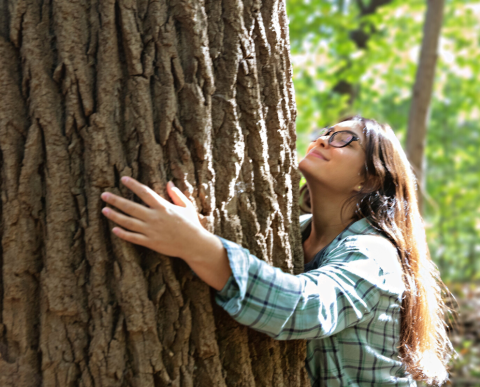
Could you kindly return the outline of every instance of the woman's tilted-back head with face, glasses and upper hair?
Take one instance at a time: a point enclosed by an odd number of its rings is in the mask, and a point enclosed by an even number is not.
[[[388,125],[354,116],[332,128],[333,132],[353,132],[359,140],[344,148],[329,146],[329,137],[326,136],[312,141],[307,155],[299,164],[309,184],[328,185],[346,194],[348,202],[355,201],[357,204],[357,219],[379,210],[391,211],[392,201],[399,194],[396,192],[398,189],[407,189],[414,194],[415,180],[410,164]],[[306,190],[305,185],[302,194],[306,194]],[[302,196],[306,196],[301,203],[302,210],[310,212],[308,194]]]

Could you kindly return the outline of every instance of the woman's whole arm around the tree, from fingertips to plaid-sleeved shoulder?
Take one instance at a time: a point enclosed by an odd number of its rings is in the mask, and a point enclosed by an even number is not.
[[[337,248],[329,255],[330,264],[295,276],[206,231],[193,205],[172,184],[167,191],[178,205],[133,179],[122,182],[150,208],[102,194],[102,199],[130,215],[103,209],[109,219],[130,230],[115,227],[113,232],[128,242],[184,259],[219,290],[216,302],[241,324],[278,340],[319,338],[371,318],[379,303],[385,278],[376,262],[396,254],[393,247]],[[386,308],[391,307],[387,302]],[[391,313],[387,309],[383,312]]]

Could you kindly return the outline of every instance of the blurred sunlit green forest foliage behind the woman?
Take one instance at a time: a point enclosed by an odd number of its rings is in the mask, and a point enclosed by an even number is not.
[[[320,128],[357,113],[390,124],[405,144],[426,7],[287,1],[299,159]],[[459,385],[480,380],[479,20],[480,2],[446,1],[425,148],[429,247],[461,312]]]

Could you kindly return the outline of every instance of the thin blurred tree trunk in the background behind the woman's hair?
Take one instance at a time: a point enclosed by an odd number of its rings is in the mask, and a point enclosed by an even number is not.
[[[444,5],[445,0],[427,1],[422,47],[408,118],[407,155],[417,176],[417,198],[420,211],[423,210],[423,196],[425,196],[424,156],[428,113],[435,78]]]

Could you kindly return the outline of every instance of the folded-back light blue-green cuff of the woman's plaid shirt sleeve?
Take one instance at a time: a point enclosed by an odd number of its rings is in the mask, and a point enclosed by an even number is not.
[[[245,299],[250,266],[250,252],[242,246],[223,239],[216,235],[227,251],[228,261],[232,275],[222,290],[217,291],[215,301],[231,316],[237,315],[242,309],[242,301]]]

